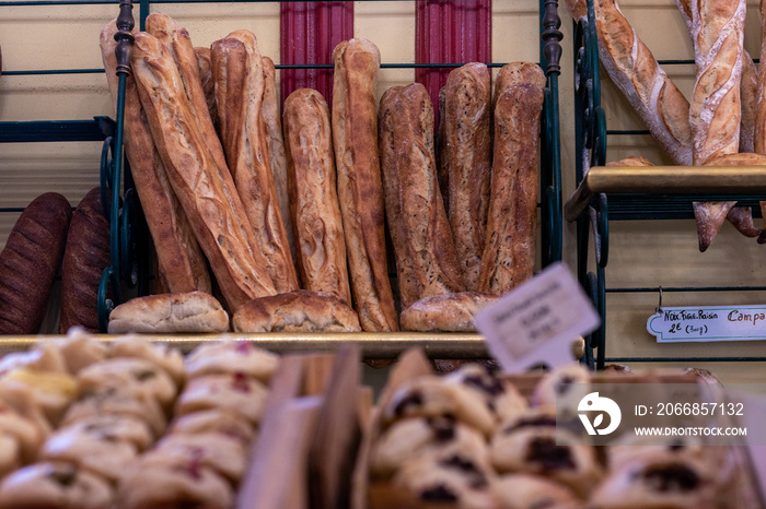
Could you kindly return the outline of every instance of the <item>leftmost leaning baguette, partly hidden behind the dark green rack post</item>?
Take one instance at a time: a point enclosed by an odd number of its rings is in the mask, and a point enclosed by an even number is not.
[[[101,33],[101,51],[112,99],[117,105],[116,21]],[[125,152],[130,162],[136,191],[156,251],[158,271],[167,292],[210,292],[210,274],[202,251],[192,233],[186,213],[167,179],[154,146],[136,82],[128,75],[125,86]]]

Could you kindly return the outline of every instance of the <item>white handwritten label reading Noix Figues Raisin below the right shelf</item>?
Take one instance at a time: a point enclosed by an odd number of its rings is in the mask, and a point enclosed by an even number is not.
[[[662,308],[647,330],[658,343],[766,340],[766,306]]]

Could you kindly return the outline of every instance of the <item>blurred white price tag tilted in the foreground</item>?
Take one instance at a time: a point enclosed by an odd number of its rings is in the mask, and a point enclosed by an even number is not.
[[[601,319],[569,269],[554,263],[481,309],[474,323],[502,368],[518,372],[570,364],[572,341]]]

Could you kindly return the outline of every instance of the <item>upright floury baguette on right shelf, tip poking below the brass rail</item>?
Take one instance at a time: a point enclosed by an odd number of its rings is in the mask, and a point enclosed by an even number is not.
[[[692,2],[692,40],[697,81],[689,107],[694,164],[736,154],[740,146],[740,83],[745,1]],[[705,251],[736,202],[694,202],[699,250]]]

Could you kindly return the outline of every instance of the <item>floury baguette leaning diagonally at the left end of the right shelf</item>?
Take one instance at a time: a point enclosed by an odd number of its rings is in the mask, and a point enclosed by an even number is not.
[[[584,2],[569,3],[574,15],[582,15]],[[688,100],[657,63],[615,0],[595,0],[594,9],[599,56],[607,74],[673,163],[690,166]]]

